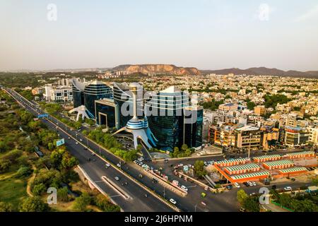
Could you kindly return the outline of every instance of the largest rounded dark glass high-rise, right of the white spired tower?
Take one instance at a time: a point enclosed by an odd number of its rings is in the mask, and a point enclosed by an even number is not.
[[[158,139],[158,148],[173,150],[187,144],[202,145],[203,108],[190,106],[189,93],[171,86],[153,93],[146,101],[148,124]]]

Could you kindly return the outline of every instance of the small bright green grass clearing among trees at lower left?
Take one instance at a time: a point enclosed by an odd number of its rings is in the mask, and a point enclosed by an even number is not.
[[[11,203],[15,209],[27,197],[27,183],[21,179],[8,178],[0,181],[0,201]]]

